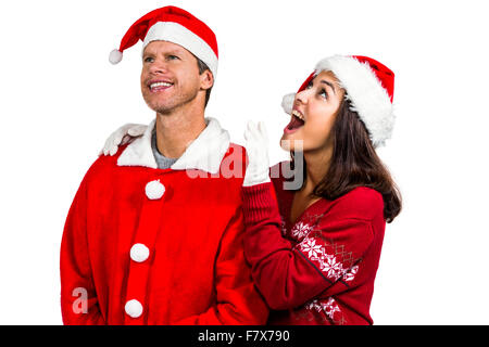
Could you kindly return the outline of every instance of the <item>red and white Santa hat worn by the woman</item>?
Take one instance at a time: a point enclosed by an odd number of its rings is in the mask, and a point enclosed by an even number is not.
[[[304,90],[321,72],[335,74],[340,86],[347,91],[344,98],[350,101],[351,110],[355,111],[365,124],[374,146],[384,145],[391,136],[394,123],[394,74],[372,57],[334,55],[316,64],[314,72],[298,92]],[[296,93],[284,97],[281,106],[286,113],[292,113],[294,99]]]

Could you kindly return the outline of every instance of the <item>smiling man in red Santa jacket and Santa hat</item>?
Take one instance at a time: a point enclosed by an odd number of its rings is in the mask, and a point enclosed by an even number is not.
[[[100,156],[78,189],[61,245],[63,321],[263,324],[242,249],[242,175],[224,172],[225,163],[244,167],[244,152],[204,118],[215,36],[166,7],[137,21],[111,62],[138,39],[141,92],[156,116],[117,155]]]

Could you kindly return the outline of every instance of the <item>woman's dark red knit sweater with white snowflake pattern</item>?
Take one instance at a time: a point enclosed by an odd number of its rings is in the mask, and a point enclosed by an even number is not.
[[[271,169],[272,182],[242,188],[244,255],[273,309],[269,324],[373,324],[386,226],[381,194],[356,188],[316,201],[290,221],[294,192],[284,189],[283,165]]]

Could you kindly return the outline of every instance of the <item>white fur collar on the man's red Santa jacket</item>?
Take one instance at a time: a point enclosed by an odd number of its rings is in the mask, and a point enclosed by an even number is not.
[[[117,159],[118,166],[146,166],[158,168],[151,149],[151,133],[156,120],[153,119],[142,137],[134,140]],[[193,140],[184,154],[172,165],[173,170],[199,169],[217,174],[226,154],[230,138],[215,118],[205,118],[205,129]]]

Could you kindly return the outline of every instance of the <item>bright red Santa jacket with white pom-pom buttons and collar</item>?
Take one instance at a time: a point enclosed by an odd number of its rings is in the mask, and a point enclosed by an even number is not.
[[[243,176],[229,172],[244,169],[244,151],[205,121],[168,169],[151,150],[154,120],[90,167],[61,244],[65,324],[266,322],[243,256]]]

